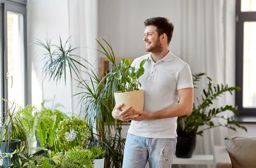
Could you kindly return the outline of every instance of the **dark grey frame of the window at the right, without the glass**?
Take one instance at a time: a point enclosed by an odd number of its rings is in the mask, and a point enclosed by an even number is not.
[[[256,22],[256,11],[241,12],[241,0],[236,0],[236,107],[240,122],[256,122],[256,108],[243,107],[243,52],[244,52],[244,22]]]

